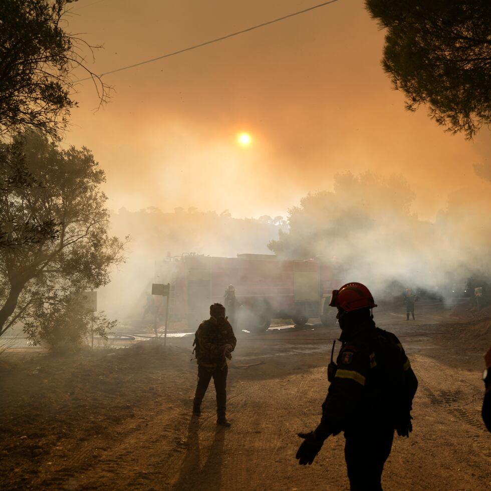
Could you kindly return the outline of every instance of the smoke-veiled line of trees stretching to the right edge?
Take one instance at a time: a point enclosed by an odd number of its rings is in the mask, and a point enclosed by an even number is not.
[[[411,211],[415,194],[403,177],[338,174],[333,191],[309,193],[290,208],[289,231],[269,248],[282,258],[335,260],[346,281],[388,297],[394,281],[444,293],[491,271],[487,188],[483,182],[483,189],[452,193],[447,208],[427,221]]]

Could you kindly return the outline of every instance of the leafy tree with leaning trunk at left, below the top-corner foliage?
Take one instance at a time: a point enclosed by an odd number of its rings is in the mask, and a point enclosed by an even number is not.
[[[0,193],[9,237],[23,237],[31,224],[56,224],[56,233],[40,234],[36,243],[0,249],[0,335],[20,321],[32,334],[34,321],[43,330],[67,314],[74,296],[106,285],[111,265],[123,261],[124,243],[108,234],[105,174],[87,148],[61,150],[30,131],[0,143],[0,155],[18,159],[37,183]]]

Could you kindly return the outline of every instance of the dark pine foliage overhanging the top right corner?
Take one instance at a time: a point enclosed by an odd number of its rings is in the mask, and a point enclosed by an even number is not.
[[[491,122],[489,0],[366,0],[387,29],[382,65],[406,108],[467,138]]]

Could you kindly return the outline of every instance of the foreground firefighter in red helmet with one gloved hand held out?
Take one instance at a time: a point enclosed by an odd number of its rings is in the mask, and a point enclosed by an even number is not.
[[[329,305],[338,309],[342,347],[328,369],[331,384],[321,422],[314,431],[299,433],[304,441],[297,459],[311,464],[324,440],[343,431],[350,489],[382,489],[394,430],[399,436],[412,431],[418,381],[397,337],[375,326],[377,305],[365,285],[343,285]]]

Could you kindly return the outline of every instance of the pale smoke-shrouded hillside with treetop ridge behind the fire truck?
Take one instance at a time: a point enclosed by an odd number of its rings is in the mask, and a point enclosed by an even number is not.
[[[130,235],[127,262],[115,269],[110,285],[99,293],[99,309],[124,322],[139,320],[155,276],[155,261],[183,253],[236,257],[240,253],[271,254],[268,242],[286,229],[281,216],[233,218],[196,208],[163,212],[121,208],[111,214],[111,233]]]

